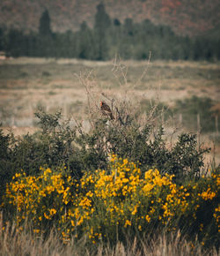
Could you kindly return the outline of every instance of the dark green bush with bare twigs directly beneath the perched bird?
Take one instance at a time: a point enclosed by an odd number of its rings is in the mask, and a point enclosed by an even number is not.
[[[142,169],[156,168],[161,172],[165,169],[167,173],[175,174],[180,182],[184,182],[185,177],[199,177],[203,154],[209,149],[198,147],[196,136],[192,134],[181,134],[176,144],[168,149],[161,125],[164,109],[155,104],[146,116],[142,116],[139,109],[129,106],[128,102],[115,103],[114,120],[100,117],[99,112],[94,113],[92,131],[83,132],[78,138],[82,155],[92,160],[90,166],[84,167],[106,168],[108,154],[114,153],[140,162]],[[87,160],[85,162],[88,163]]]

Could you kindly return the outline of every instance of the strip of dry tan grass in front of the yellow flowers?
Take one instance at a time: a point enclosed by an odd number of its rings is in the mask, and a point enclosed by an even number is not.
[[[128,239],[127,245],[123,245],[120,241],[116,245],[104,244],[101,241],[97,245],[92,245],[85,236],[78,240],[72,237],[70,241],[63,244],[55,230],[52,230],[47,238],[43,238],[40,235],[33,235],[27,225],[23,227],[23,230],[18,231],[14,224],[11,226],[8,223],[4,230],[1,225],[0,255],[217,256],[218,253],[215,248],[209,251],[204,250],[197,241],[194,241],[194,244],[187,242],[180,232],[169,235],[155,234],[150,241],[140,238]]]

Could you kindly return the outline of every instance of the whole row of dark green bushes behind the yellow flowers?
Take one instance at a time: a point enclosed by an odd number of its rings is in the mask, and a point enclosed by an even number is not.
[[[98,109],[98,108],[97,108]],[[80,124],[70,128],[68,121],[61,121],[61,112],[48,114],[40,109],[40,131],[23,138],[0,133],[2,188],[16,171],[26,170],[35,175],[40,166],[59,169],[65,164],[72,177],[79,179],[84,171],[106,169],[109,154],[117,154],[133,162],[140,162],[141,169],[156,168],[163,173],[175,174],[177,182],[186,177],[199,177],[203,154],[208,149],[197,149],[194,135],[180,135],[176,144],[165,147],[164,129],[159,121],[159,109],[151,109],[141,118],[139,110],[132,112],[126,102],[114,105],[114,120],[91,110],[90,132]]]

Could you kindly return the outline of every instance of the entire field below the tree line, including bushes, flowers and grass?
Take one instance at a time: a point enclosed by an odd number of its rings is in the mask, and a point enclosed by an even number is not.
[[[219,74],[1,60],[0,255],[218,255]]]

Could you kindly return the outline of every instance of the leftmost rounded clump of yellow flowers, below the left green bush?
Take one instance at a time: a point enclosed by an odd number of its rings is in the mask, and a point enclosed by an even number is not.
[[[5,200],[15,208],[17,224],[31,220],[34,232],[39,232],[41,223],[60,215],[63,207],[72,202],[71,177],[53,173],[51,169],[40,169],[38,177],[26,176],[25,172],[15,174],[7,184]],[[5,204],[5,203],[4,203]]]

